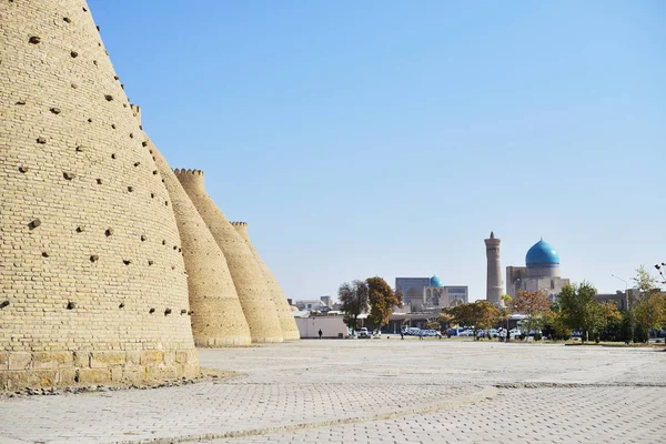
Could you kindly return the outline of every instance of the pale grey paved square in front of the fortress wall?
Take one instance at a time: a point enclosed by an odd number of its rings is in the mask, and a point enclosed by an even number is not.
[[[0,443],[666,442],[666,353],[465,341],[200,350],[241,376],[0,401]]]

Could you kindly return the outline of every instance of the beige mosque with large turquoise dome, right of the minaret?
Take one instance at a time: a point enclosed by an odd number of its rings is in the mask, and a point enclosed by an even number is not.
[[[506,292],[511,296],[519,290],[544,290],[554,301],[562,287],[569,283],[568,279],[559,275],[559,254],[543,239],[527,250],[525,265],[506,268]]]

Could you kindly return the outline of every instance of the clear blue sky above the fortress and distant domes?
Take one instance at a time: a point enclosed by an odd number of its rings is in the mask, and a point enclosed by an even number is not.
[[[143,124],[293,299],[539,236],[602,292],[666,261],[666,2],[89,0]]]

